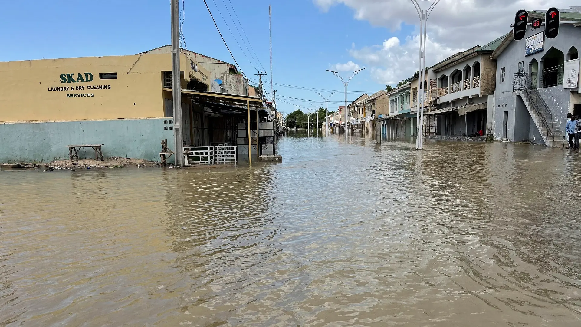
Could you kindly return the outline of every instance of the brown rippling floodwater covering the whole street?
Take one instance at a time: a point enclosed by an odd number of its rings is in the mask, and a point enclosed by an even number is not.
[[[0,172],[0,326],[580,326],[581,154],[292,135]]]

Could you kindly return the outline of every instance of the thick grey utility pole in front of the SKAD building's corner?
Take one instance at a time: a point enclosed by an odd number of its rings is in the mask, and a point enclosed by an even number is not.
[[[180,73],[180,5],[171,0],[171,93],[174,101],[175,165],[185,166],[184,136],[181,111],[181,73]]]

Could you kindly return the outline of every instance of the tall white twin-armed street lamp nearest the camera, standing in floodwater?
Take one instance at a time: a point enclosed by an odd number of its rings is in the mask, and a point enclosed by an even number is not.
[[[431,1],[431,0],[421,0],[421,1]],[[424,138],[422,137],[422,130],[424,129],[424,79],[425,79],[425,69],[426,69],[426,38],[428,34],[426,30],[428,29],[428,18],[432,13],[432,10],[437,5],[440,0],[435,0],[428,10],[422,10],[419,6],[417,0],[411,0],[414,3],[415,10],[418,11],[419,16],[419,71],[418,71],[418,136],[415,140],[415,149],[422,150],[424,148]]]

